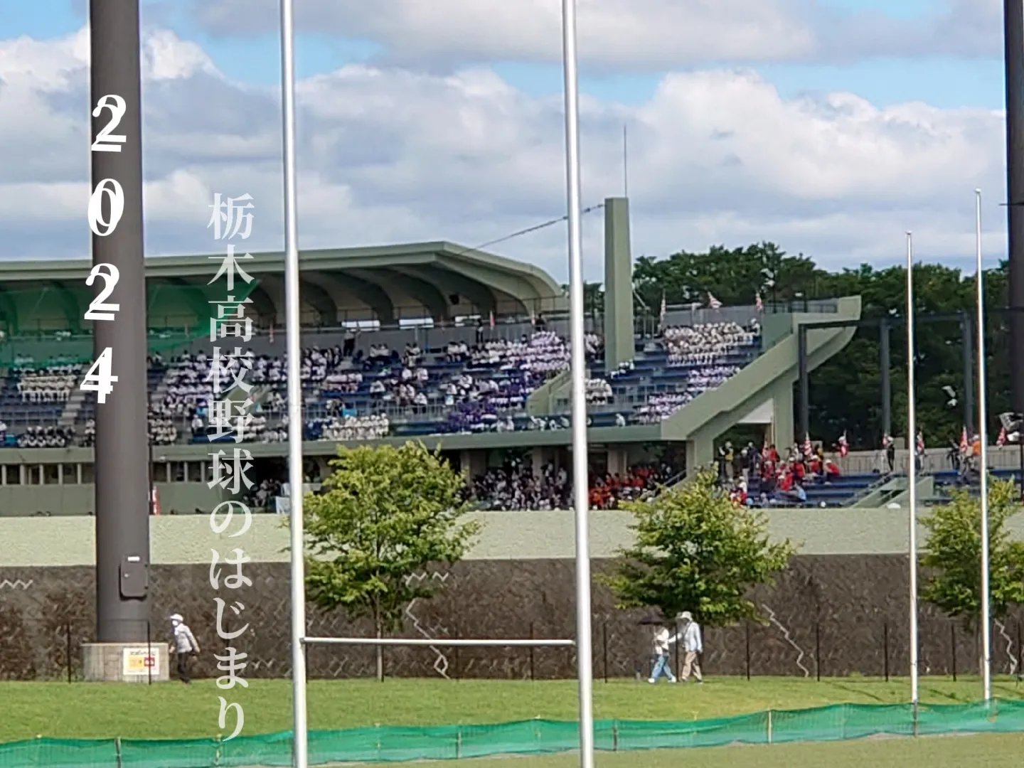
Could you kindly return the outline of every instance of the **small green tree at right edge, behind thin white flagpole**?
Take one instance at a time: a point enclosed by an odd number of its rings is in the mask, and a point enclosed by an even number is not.
[[[1013,480],[990,480],[988,594],[994,620],[1005,618],[1012,605],[1024,602],[1024,543],[1011,541],[1007,530],[1007,521],[1018,511]],[[977,637],[981,633],[981,501],[967,490],[954,490],[949,504],[933,507],[922,524],[929,536],[921,564],[935,570],[923,585],[922,597],[959,618]]]

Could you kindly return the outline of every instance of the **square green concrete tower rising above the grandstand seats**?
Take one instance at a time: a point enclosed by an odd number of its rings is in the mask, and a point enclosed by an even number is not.
[[[604,368],[609,373],[634,356],[633,256],[630,201],[604,201]]]

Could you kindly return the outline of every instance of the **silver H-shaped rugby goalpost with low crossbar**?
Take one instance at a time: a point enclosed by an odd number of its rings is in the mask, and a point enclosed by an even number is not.
[[[586,352],[584,345],[583,248],[580,210],[579,78],[575,0],[562,0],[562,60],[565,83],[565,181],[568,220],[572,397],[572,487],[575,511],[575,639],[369,638],[306,635],[302,520],[302,379],[299,338],[299,251],[295,165],[294,0],[281,0],[282,122],[285,191],[285,311],[288,354],[288,457],[291,528],[291,640],[293,765],[308,768],[306,646],[575,647],[580,698],[580,765],[594,768],[593,649],[587,466]]]

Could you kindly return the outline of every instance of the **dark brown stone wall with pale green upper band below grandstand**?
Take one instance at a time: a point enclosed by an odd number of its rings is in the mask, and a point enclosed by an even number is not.
[[[568,512],[479,513],[485,527],[479,543],[451,569],[430,569],[438,594],[407,611],[403,633],[432,637],[571,637],[574,632],[572,516]],[[252,586],[220,594],[246,605],[244,618],[226,630],[250,630],[237,643],[249,653],[249,677],[284,677],[289,664],[289,566],[287,518],[254,516],[250,530],[236,539],[212,534],[206,515],[152,519],[154,642],[169,640],[166,617],[184,614],[204,653],[198,672],[216,676],[224,642],[216,635],[216,604],[209,583],[210,550],[226,556],[239,547],[252,558],[244,572]],[[773,538],[802,543],[801,554],[777,583],[752,594],[765,626],[752,624],[706,632],[706,671],[711,675],[812,676],[905,674],[907,666],[907,558],[905,510],[775,510]],[[236,520],[237,522],[237,520]],[[92,523],[89,518],[5,518],[0,520],[0,678],[62,678],[69,658],[80,665],[79,645],[94,637],[95,587]],[[609,570],[616,550],[630,541],[629,518],[595,512],[591,542],[595,573]],[[1024,536],[1024,520],[1013,520]],[[642,611],[615,608],[596,580],[594,588],[595,674],[645,674],[648,637],[637,626]],[[1009,672],[1020,651],[1024,611],[996,627],[994,663]],[[370,634],[364,620],[344,612],[309,609],[315,635]],[[977,657],[974,637],[923,606],[922,669],[926,674],[962,673]],[[71,652],[69,653],[69,648]],[[308,659],[313,678],[370,677],[369,649],[314,648]],[[386,651],[391,676],[557,678],[573,674],[573,657],[562,649],[428,648]],[[439,672],[440,671],[440,672]]]

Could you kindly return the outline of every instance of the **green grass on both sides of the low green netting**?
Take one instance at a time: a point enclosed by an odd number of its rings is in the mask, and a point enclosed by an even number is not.
[[[908,698],[906,680],[871,678],[804,680],[799,678],[712,678],[703,686],[651,686],[632,680],[594,685],[598,719],[701,720],[772,710],[798,710],[833,703],[898,703]],[[1024,697],[1024,684],[996,679],[1000,698]],[[217,733],[217,696],[212,680],[191,686],[177,682],[155,685],[92,683],[0,683],[0,741],[35,736],[62,738],[190,738]],[[922,679],[922,701],[966,703],[980,698],[976,679]],[[232,700],[246,713],[245,733],[291,728],[291,683],[250,680]],[[336,680],[309,682],[309,727],[335,730],[368,725],[444,725],[500,723],[530,718],[574,720],[574,681],[519,682],[497,680]],[[735,766],[922,765],[944,768],[977,764],[1022,764],[1024,734],[1010,736],[930,737],[770,746],[730,746],[682,752],[601,754],[600,768],[662,768],[721,765],[722,751]],[[505,760],[506,763],[497,763]],[[514,768],[568,768],[572,755],[539,758],[463,760],[465,768],[509,764]],[[981,762],[984,760],[984,762]],[[508,763],[507,761],[512,761]],[[434,763],[433,765],[455,765]]]

